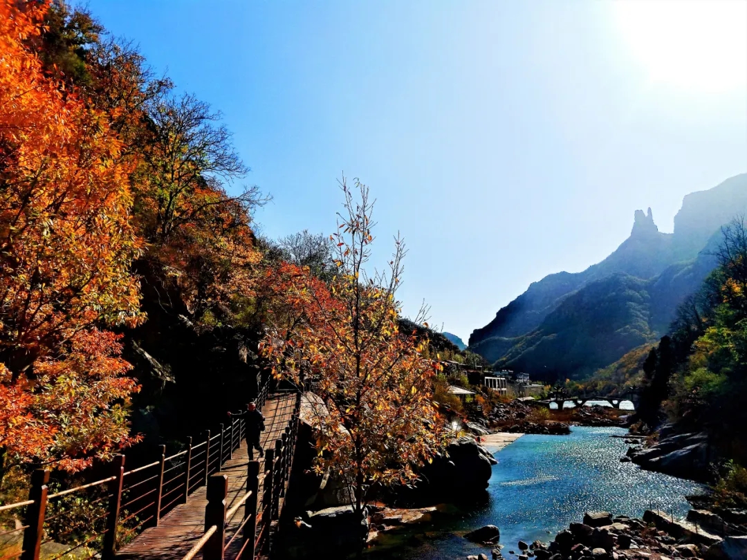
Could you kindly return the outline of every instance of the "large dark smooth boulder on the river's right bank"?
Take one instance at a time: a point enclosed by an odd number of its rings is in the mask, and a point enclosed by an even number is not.
[[[669,435],[651,447],[636,447],[628,454],[643,469],[692,480],[707,479],[713,455],[704,433]]]

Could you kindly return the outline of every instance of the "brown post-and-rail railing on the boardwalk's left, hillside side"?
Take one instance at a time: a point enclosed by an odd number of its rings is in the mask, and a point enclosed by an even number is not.
[[[267,379],[255,399],[260,409],[269,388]],[[187,449],[173,455],[167,456],[166,446],[161,445],[158,460],[127,471],[125,456],[115,455],[110,476],[54,494],[49,493],[49,470],[35,470],[28,500],[0,505],[0,514],[12,512],[15,519],[22,519],[21,526],[0,532],[0,545],[5,548],[0,548],[0,560],[39,560],[42,545],[49,542],[65,544],[66,549],[46,560],[72,557],[67,556],[70,554],[76,559],[114,559],[120,546],[143,529],[158,526],[161,518],[186,503],[196,488],[208,485],[209,497],[214,473],[241,446],[246,429],[244,419],[233,419],[228,425],[220,424],[214,435],[208,430],[199,444],[193,445],[193,438],[187,438]],[[257,491],[253,495],[256,497]],[[249,498],[244,497],[247,504],[252,503]],[[22,541],[18,538],[21,534]],[[18,541],[22,542],[19,549]]]

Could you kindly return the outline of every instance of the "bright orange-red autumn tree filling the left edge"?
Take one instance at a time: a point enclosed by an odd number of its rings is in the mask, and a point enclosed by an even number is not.
[[[130,169],[105,113],[35,52],[49,5],[0,1],[0,476],[131,442],[108,326],[141,319]]]

